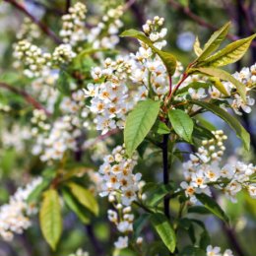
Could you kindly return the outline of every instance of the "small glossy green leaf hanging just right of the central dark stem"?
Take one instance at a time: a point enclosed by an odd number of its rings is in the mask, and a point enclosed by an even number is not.
[[[169,110],[168,117],[175,133],[191,143],[191,135],[194,128],[194,122],[191,117],[180,109]]]

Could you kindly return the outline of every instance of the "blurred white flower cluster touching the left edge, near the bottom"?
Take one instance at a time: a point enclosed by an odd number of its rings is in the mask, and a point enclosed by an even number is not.
[[[10,198],[8,204],[0,207],[0,235],[6,241],[11,241],[15,233],[23,233],[31,225],[29,219],[37,210],[34,205],[27,203],[32,190],[41,183],[42,179],[32,180],[25,188],[19,188]]]

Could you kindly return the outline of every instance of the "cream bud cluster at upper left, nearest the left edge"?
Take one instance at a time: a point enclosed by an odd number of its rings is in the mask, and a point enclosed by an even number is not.
[[[14,56],[18,59],[16,67],[25,66],[24,74],[29,78],[39,77],[51,65],[51,55],[27,40],[15,45]]]

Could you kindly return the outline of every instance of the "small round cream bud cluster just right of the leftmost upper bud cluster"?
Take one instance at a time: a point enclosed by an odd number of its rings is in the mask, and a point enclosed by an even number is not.
[[[52,61],[57,65],[71,62],[76,57],[70,44],[60,44],[52,53]]]

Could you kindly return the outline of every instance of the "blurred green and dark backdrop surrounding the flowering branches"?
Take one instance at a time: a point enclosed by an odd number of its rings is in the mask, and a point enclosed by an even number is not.
[[[21,76],[22,72],[14,68],[13,44],[17,41],[17,35],[21,30],[25,14],[15,8],[12,1],[0,2],[0,81],[14,86],[25,87],[28,80]],[[58,32],[61,15],[65,13],[67,2],[64,0],[27,0],[18,1],[25,6],[29,13],[52,31]],[[106,1],[88,0],[81,2],[87,4],[89,9],[88,27],[96,24],[97,17],[104,13],[105,6],[126,4],[127,10],[122,17],[125,29],[141,29],[147,19],[156,15],[164,17],[165,26],[168,29],[168,50],[178,56],[183,65],[188,64],[195,55],[193,54],[193,42],[198,35],[205,42],[213,31],[220,28],[227,21],[232,22],[229,41],[238,37],[244,37],[256,31],[256,1],[254,0],[138,0],[138,1]],[[226,41],[228,42],[228,40]],[[44,34],[37,38],[37,44],[41,47],[54,46],[52,41]],[[122,50],[134,50],[138,45],[121,40],[118,47]],[[256,62],[256,41],[254,41],[246,56],[228,66],[230,72],[239,71]],[[254,95],[255,96],[255,95]],[[10,104],[11,113],[0,114],[0,203],[8,201],[9,194],[13,194],[16,188],[26,183],[32,174],[36,174],[37,161],[28,156],[30,145],[24,142],[26,137],[26,115],[23,118],[21,108],[22,98],[0,88],[0,104]],[[250,114],[238,117],[251,134],[252,147],[250,153],[245,153],[240,148],[240,142],[235,135],[224,126],[224,122],[218,117],[207,115],[216,127],[224,129],[229,140],[226,148],[226,158],[239,158],[240,160],[256,163],[256,111],[253,108]],[[24,122],[24,131],[16,122]],[[25,154],[26,153],[26,154]],[[157,159],[158,157],[156,157]],[[156,162],[155,162],[156,163]],[[149,164],[141,163],[144,176],[147,179]],[[151,167],[152,168],[152,167]],[[158,164],[156,164],[158,168]],[[180,168],[177,165],[175,175],[179,179]],[[174,175],[174,174],[173,174]],[[156,175],[157,176],[157,175]],[[150,179],[150,177],[149,177]],[[217,219],[204,217],[210,233],[212,244],[224,248],[233,248],[235,239],[243,250],[243,254],[256,255],[256,200],[251,199],[245,193],[239,194],[237,204],[226,202],[219,198],[227,215],[231,219],[233,228],[226,229]],[[100,203],[102,218],[97,219],[94,226],[80,224],[76,217],[67,213],[64,220],[64,234],[56,252],[51,252],[43,241],[38,222],[35,218],[32,228],[23,235],[17,236],[12,243],[0,240],[0,256],[66,256],[82,247],[91,252],[91,255],[105,255],[100,251],[102,245],[110,246],[113,226],[107,224],[106,207]],[[173,202],[175,214],[175,202]],[[202,218],[202,217],[200,217]],[[92,228],[94,229],[92,231]],[[89,238],[89,233],[94,233]],[[235,233],[235,234],[234,234]],[[232,237],[235,235],[235,237]],[[95,237],[96,236],[96,237]],[[93,237],[93,238],[92,238]],[[180,236],[182,238],[182,234]],[[184,235],[185,237],[185,235]],[[94,240],[94,238],[96,238]],[[186,238],[184,238],[185,242]],[[97,248],[99,247],[99,248]],[[129,250],[123,255],[133,255]]]

